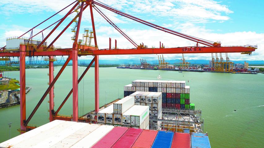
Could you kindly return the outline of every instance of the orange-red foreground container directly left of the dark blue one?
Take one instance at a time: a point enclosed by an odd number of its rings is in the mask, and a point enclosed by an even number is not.
[[[132,148],[151,148],[157,134],[157,130],[143,130]]]

